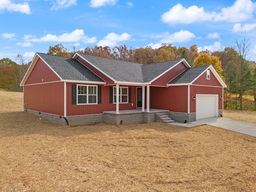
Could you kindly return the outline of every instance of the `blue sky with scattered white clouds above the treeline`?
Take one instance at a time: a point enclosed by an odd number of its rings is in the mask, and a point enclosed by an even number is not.
[[[255,14],[251,0],[0,0],[0,59],[28,62],[60,43],[222,51],[246,31],[255,60]]]

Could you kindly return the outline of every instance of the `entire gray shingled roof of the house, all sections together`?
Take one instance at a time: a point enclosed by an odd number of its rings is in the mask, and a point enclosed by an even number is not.
[[[76,59],[43,53],[38,54],[64,80],[105,82]],[[143,65],[89,54],[78,54],[117,81],[138,83],[150,82],[182,60],[177,59]],[[188,68],[168,84],[190,83],[208,66]]]

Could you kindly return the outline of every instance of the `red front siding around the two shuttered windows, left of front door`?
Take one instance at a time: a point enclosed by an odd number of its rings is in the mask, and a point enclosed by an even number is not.
[[[101,104],[87,104],[87,105],[72,105],[72,84],[67,83],[67,116],[88,115],[88,114],[102,114],[105,111],[115,111],[116,104],[109,103],[109,86],[101,86]],[[99,85],[98,85],[99,86]],[[120,103],[119,110],[133,110],[136,109],[136,86],[131,87],[132,102]],[[133,103],[133,106],[132,106]]]

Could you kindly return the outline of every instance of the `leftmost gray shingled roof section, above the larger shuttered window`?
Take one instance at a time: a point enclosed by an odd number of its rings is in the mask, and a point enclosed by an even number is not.
[[[40,57],[64,80],[105,82],[73,58],[38,53]]]

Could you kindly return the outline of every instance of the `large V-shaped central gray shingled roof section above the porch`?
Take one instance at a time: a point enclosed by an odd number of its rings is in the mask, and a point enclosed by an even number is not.
[[[138,64],[100,56],[78,53],[104,73],[122,82],[150,82],[182,59],[153,64]]]

